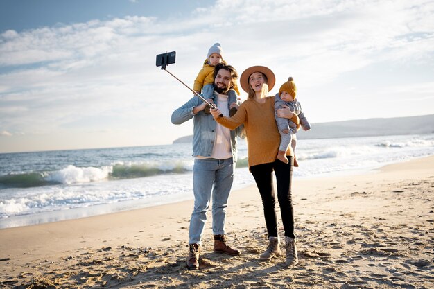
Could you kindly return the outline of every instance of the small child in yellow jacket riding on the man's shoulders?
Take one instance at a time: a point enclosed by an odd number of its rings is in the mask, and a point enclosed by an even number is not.
[[[211,99],[214,101],[214,67],[219,63],[227,64],[225,60],[223,60],[222,46],[220,43],[215,43],[209,48],[207,59],[205,60],[202,69],[200,69],[198,76],[196,76],[193,85],[193,90],[198,94],[202,92],[202,96],[205,99]],[[232,89],[236,91],[238,96],[240,95],[236,82],[234,82]],[[205,113],[209,113],[209,106],[205,107]],[[234,114],[234,112],[231,111],[231,116],[232,114]]]

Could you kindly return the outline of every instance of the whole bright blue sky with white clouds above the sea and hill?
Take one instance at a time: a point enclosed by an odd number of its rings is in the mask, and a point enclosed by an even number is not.
[[[170,144],[214,43],[310,123],[434,114],[434,1],[0,0],[0,153]],[[247,94],[241,91],[241,100]],[[170,153],[170,152],[168,152]]]

